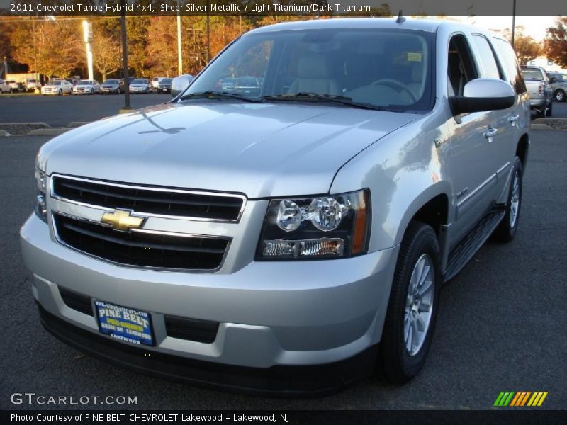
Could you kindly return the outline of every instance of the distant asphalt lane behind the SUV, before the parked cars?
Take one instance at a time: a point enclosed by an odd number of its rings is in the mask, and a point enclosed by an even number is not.
[[[170,101],[169,94],[132,94],[133,108]],[[94,121],[116,115],[124,106],[124,95],[0,96],[0,123],[47,123],[64,127],[73,121]],[[567,118],[567,102],[554,102],[551,118]],[[535,113],[532,113],[535,118]]]

